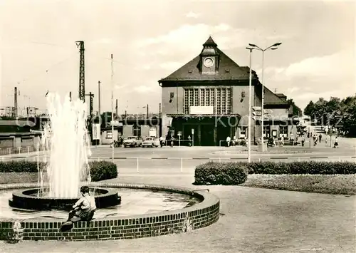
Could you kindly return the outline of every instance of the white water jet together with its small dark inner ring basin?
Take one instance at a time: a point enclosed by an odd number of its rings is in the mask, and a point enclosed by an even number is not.
[[[43,158],[47,166],[38,166],[39,185],[31,190],[14,192],[9,200],[11,207],[30,210],[70,210],[80,197],[80,182],[89,185],[90,167],[88,156],[90,138],[86,128],[88,112],[81,100],[70,101],[64,98],[62,103],[58,94],[49,94],[47,99],[50,121],[45,125],[41,138]],[[45,187],[44,185],[48,185]],[[98,208],[120,204],[120,196],[112,190],[90,189]]]

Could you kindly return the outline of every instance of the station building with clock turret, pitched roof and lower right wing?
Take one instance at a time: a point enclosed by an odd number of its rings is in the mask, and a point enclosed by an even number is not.
[[[252,71],[251,140],[261,138],[261,91]],[[199,56],[166,78],[162,87],[162,136],[221,145],[228,136],[243,138],[248,126],[249,68],[226,56],[211,37]],[[293,136],[288,103],[283,95],[264,88],[264,137]],[[286,128],[285,128],[286,126]]]

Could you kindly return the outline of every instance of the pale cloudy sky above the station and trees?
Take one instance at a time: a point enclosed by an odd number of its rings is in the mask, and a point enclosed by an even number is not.
[[[356,93],[355,10],[355,1],[0,0],[0,107],[14,105],[14,86],[20,108],[45,110],[47,91],[78,98],[75,41],[85,41],[94,110],[101,81],[102,112],[113,90],[119,113],[145,113],[147,104],[157,113],[159,79],[198,56],[209,36],[239,66],[248,66],[248,43],[282,42],[265,52],[264,84],[302,109],[345,98]],[[251,66],[261,78],[260,51]]]

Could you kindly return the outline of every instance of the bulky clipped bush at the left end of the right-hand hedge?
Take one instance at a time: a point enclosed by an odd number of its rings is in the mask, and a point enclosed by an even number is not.
[[[196,167],[194,185],[239,185],[246,181],[247,173],[236,162],[207,162]]]

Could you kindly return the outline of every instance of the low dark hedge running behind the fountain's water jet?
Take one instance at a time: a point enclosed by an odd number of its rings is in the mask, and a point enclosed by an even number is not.
[[[46,163],[39,162],[38,165],[43,168],[46,166]],[[93,161],[89,162],[89,167],[93,182],[117,177],[117,166],[115,163]],[[27,160],[0,162],[0,172],[38,172],[37,162]]]

